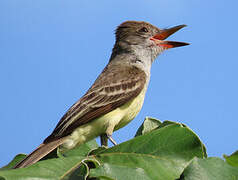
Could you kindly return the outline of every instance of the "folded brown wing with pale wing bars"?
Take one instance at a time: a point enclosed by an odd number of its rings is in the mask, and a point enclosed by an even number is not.
[[[61,118],[44,143],[71,134],[77,127],[102,116],[138,96],[146,74],[129,66],[107,66],[87,93]]]

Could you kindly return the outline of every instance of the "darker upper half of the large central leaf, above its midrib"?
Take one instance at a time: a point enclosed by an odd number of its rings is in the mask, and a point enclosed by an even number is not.
[[[132,152],[163,157],[180,157],[190,160],[194,156],[203,158],[203,144],[189,128],[172,124],[150,133],[135,137],[101,153]]]

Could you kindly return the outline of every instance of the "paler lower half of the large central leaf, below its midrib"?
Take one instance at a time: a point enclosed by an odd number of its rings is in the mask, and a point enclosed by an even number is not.
[[[179,168],[172,160],[149,154],[114,153],[97,156],[102,163],[90,170],[90,177],[117,180],[170,180],[178,177]]]

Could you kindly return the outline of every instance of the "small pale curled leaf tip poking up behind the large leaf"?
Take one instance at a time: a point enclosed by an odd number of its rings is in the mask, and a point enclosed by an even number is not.
[[[146,117],[143,124],[137,130],[135,137],[157,129],[160,124],[162,124],[160,120],[151,117]]]

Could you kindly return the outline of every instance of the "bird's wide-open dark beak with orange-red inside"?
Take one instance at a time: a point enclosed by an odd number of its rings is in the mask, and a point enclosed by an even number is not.
[[[164,39],[166,39],[167,37],[174,34],[175,32],[177,32],[178,30],[182,29],[185,26],[186,25],[179,25],[179,26],[175,26],[175,27],[172,27],[169,29],[163,29],[163,30],[161,30],[160,33],[151,37],[150,40],[154,41],[157,46],[162,46],[166,49],[180,47],[180,46],[187,46],[189,44],[185,43],[185,42],[163,41]]]

